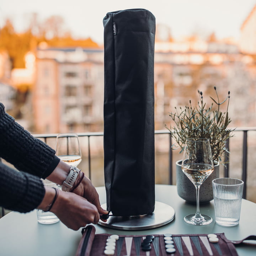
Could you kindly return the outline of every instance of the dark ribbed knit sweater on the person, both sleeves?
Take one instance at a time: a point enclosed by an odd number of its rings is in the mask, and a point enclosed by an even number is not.
[[[22,213],[37,208],[45,194],[40,178],[48,177],[60,159],[52,148],[15,122],[2,103],[0,157],[18,170],[0,163],[0,206]]]

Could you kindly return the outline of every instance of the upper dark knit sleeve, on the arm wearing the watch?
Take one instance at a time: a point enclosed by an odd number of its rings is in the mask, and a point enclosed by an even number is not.
[[[34,138],[14,118],[7,114],[0,103],[0,156],[18,170],[38,177],[48,177],[60,159],[55,150]]]

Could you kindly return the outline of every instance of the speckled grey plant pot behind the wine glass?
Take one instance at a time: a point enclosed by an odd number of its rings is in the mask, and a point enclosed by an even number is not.
[[[188,203],[196,204],[196,187],[181,170],[181,160],[176,162],[176,185],[178,195]],[[212,180],[219,178],[219,163],[214,165],[214,171],[203,182],[199,189],[199,204],[205,204],[213,199]]]

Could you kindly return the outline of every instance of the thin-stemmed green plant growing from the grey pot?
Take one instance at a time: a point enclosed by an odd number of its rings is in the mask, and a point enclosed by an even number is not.
[[[165,127],[170,131],[172,138],[176,140],[176,143],[181,148],[180,153],[184,150],[185,142],[187,138],[207,138],[210,140],[210,146],[213,155],[214,164],[222,161],[222,157],[228,149],[225,147],[227,139],[233,137],[232,132],[235,129],[227,128],[231,122],[228,116],[228,107],[230,99],[230,91],[224,101],[220,102],[219,95],[216,86],[214,90],[217,95],[217,100],[210,97],[217,105],[217,109],[214,110],[214,104],[210,107],[206,107],[206,103],[203,101],[203,92],[198,90],[200,101],[197,106],[189,105],[185,106],[185,109],[180,107],[180,112],[175,107],[175,113],[169,113],[169,116],[174,121],[175,125],[170,128]],[[220,106],[228,100],[226,112],[220,110]],[[171,148],[176,149],[177,145],[174,143]],[[222,162],[225,164],[224,162]]]

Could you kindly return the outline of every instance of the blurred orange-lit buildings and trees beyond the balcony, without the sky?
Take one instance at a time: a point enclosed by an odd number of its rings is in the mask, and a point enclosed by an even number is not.
[[[103,132],[104,48],[90,37],[63,33],[64,20],[53,15],[41,22],[37,14],[25,31],[17,32],[7,18],[0,30],[0,102],[32,134]],[[210,106],[230,91],[230,127],[256,127],[256,5],[240,24],[239,40],[219,38],[213,31],[196,30],[176,38],[169,25],[156,23],[155,130],[167,130],[169,112],[192,101],[198,90]],[[226,105],[222,109],[226,111]],[[250,138],[255,138],[252,131]],[[230,145],[230,176],[241,178],[241,138],[234,132]],[[87,170],[87,142],[81,139]],[[55,147],[55,141],[49,141]],[[255,201],[255,140],[249,141],[248,196]],[[157,135],[156,183],[168,181],[168,135]],[[91,141],[92,182],[104,185],[103,139]],[[177,150],[174,161],[180,159]],[[175,172],[175,170],[174,170]],[[175,174],[174,174],[175,175]]]

